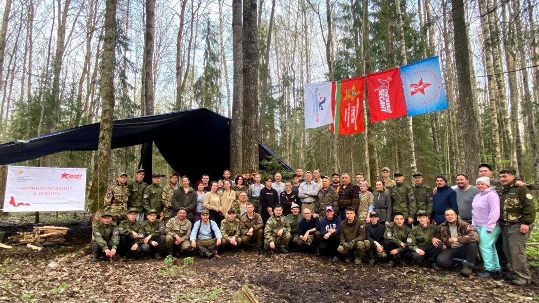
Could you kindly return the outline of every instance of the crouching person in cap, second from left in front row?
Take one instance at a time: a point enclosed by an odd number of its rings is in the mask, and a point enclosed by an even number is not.
[[[123,257],[139,256],[142,251],[139,239],[144,235],[139,233],[141,223],[136,221],[138,214],[139,210],[136,208],[128,209],[126,219],[118,225],[118,230],[120,231],[118,254]]]

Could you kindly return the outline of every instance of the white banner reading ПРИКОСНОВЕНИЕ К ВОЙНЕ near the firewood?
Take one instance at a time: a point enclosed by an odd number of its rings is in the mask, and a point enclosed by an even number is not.
[[[86,168],[8,166],[4,211],[84,210]]]

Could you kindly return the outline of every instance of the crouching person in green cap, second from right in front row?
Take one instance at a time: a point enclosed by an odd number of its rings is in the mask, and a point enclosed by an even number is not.
[[[417,211],[418,225],[413,226],[412,230],[408,233],[406,238],[405,256],[406,259],[411,260],[413,263],[421,265],[429,265],[434,270],[441,270],[436,260],[438,254],[442,251],[442,246],[434,246],[432,244],[432,238],[436,233],[436,226],[429,223],[429,214],[427,211],[421,209]]]

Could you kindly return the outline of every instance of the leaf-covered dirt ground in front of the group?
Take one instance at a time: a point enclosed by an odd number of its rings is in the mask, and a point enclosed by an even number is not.
[[[224,253],[211,260],[127,260],[90,264],[89,223],[68,226],[67,245],[41,252],[0,249],[0,302],[227,302],[247,284],[260,302],[526,302],[539,300],[534,284],[465,279],[430,268],[331,264],[304,253]],[[4,225],[11,235],[32,224]]]

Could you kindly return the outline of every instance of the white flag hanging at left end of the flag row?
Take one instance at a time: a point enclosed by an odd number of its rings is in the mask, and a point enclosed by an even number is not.
[[[335,91],[332,82],[305,84],[305,128],[333,123],[331,100]]]

